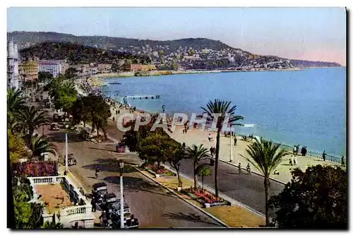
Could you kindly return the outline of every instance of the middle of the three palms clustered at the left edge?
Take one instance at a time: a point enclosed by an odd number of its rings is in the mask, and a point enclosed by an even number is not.
[[[16,114],[16,119],[23,133],[27,135],[27,143],[30,143],[30,138],[35,132],[35,129],[49,124],[48,112],[35,106],[25,107],[22,112]]]

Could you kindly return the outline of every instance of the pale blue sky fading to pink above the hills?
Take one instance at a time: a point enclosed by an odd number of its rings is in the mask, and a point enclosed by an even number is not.
[[[255,54],[346,65],[345,8],[8,8],[7,19],[8,32],[206,37]]]

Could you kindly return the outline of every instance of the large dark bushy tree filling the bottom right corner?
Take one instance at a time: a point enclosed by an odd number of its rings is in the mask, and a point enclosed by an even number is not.
[[[270,199],[275,222],[287,229],[347,229],[347,173],[340,167],[296,168],[292,181]]]

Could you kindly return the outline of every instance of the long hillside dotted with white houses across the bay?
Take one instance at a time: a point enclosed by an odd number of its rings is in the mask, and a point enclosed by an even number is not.
[[[23,59],[67,59],[71,64],[114,64],[121,59],[128,59],[130,63],[155,64],[159,70],[340,67],[340,64],[332,62],[252,54],[207,38],[157,41],[21,31],[8,32],[8,39],[18,44]]]

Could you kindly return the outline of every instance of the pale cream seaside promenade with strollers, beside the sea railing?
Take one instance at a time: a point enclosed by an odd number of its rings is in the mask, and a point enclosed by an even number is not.
[[[170,133],[169,135],[177,140],[179,143],[186,143],[186,146],[191,146],[191,145],[201,145],[203,144],[204,147],[210,149],[211,146],[215,147],[216,145],[216,136],[217,133],[211,132],[211,131],[200,131],[198,129],[193,129],[189,130],[188,133],[183,134],[182,130],[184,127],[177,127],[176,130],[173,133]],[[208,134],[211,134],[213,136],[213,142],[208,141]],[[232,139],[234,141],[234,138]],[[234,144],[234,143],[232,143]],[[241,157],[241,155],[249,157],[246,153],[246,148],[248,147],[250,143],[243,141],[243,140],[237,140],[237,146],[233,145],[233,161],[232,164],[236,167],[238,167],[239,162],[241,162],[241,167],[246,168],[246,165],[248,162],[246,159]],[[329,166],[340,166],[340,164],[335,164],[333,162],[323,162],[322,159],[316,159],[313,157],[303,157],[301,155],[297,155],[297,165],[291,166],[289,164],[289,159],[292,157],[292,155],[286,155],[285,159],[283,162],[277,167],[277,171],[280,172],[279,175],[272,175],[271,178],[276,179],[277,181],[282,181],[283,183],[287,183],[292,179],[292,174],[290,173],[291,169],[294,169],[296,167],[299,167],[301,170],[305,170],[308,166],[310,165],[317,165],[317,164],[326,164]],[[293,156],[294,157],[294,156]],[[230,159],[230,138],[225,138],[224,136],[221,135],[220,137],[220,160],[222,162],[229,162]],[[260,174],[260,171],[253,167],[251,164],[251,171],[254,171],[258,174]]]

